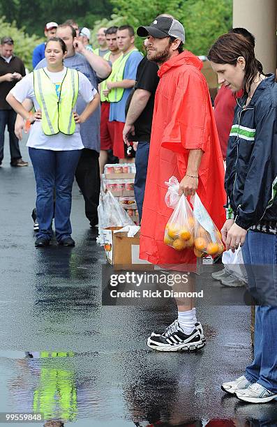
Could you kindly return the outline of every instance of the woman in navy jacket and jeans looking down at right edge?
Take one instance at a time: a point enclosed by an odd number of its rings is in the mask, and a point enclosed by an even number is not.
[[[227,249],[242,246],[248,288],[257,300],[254,361],[222,389],[246,402],[267,403],[277,398],[277,84],[237,34],[218,38],[208,58],[220,83],[245,93],[227,149],[223,239]]]

